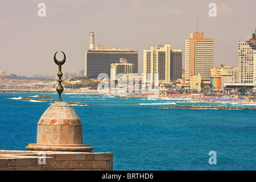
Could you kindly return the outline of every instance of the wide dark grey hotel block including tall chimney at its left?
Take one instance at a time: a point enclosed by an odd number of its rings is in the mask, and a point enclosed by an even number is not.
[[[112,63],[126,59],[127,63],[134,64],[133,72],[138,73],[138,52],[126,49],[105,49],[105,46],[96,46],[94,49],[94,33],[90,32],[90,49],[85,53],[85,73],[88,78],[97,78],[100,73],[110,77]]]

